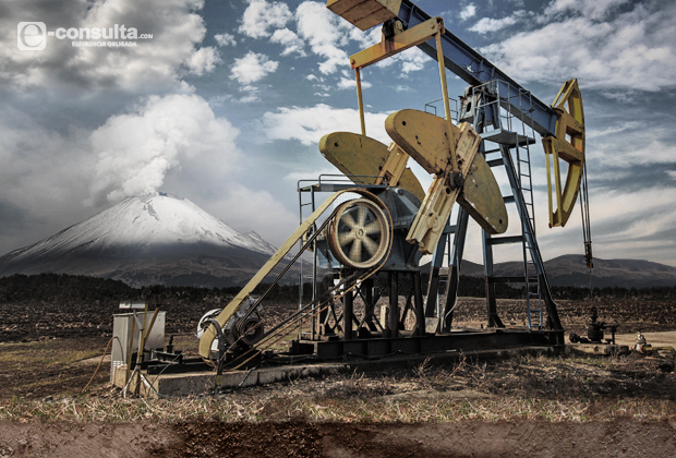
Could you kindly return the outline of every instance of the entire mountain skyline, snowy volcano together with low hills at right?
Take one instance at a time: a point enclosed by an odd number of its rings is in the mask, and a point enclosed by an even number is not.
[[[132,287],[242,286],[275,251],[257,233],[238,232],[189,200],[155,193],[129,197],[55,236],[1,256],[0,277],[53,273],[112,278]],[[582,255],[564,255],[544,264],[552,286],[589,287],[589,269]],[[497,276],[519,276],[523,264],[499,263],[494,270]],[[288,273],[287,282],[295,282],[297,273]],[[463,261],[461,275],[481,277],[483,266]],[[675,285],[676,267],[649,261],[594,260],[593,287]]]

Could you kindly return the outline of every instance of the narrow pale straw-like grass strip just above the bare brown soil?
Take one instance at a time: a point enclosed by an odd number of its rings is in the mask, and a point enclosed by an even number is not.
[[[324,399],[274,396],[181,399],[64,398],[59,401],[8,400],[0,419],[76,422],[455,422],[539,419],[550,422],[660,420],[673,414],[673,401],[648,399],[543,400],[492,399]]]

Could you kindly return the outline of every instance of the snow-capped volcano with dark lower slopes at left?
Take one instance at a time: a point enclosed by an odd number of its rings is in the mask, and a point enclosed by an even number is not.
[[[132,286],[243,284],[275,246],[241,233],[189,200],[128,197],[82,222],[0,257],[0,276],[92,275]]]

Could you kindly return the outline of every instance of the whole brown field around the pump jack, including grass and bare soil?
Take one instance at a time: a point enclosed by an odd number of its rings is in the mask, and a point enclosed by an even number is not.
[[[580,335],[592,304],[624,334],[676,329],[674,301],[557,304]],[[212,305],[160,305],[179,349]],[[266,313],[274,322],[294,306],[266,303]],[[507,326],[523,324],[523,308],[498,301]],[[181,399],[123,398],[106,362],[83,391],[118,312],[117,303],[0,303],[0,458],[676,456],[669,358],[460,360]],[[455,325],[478,327],[484,314],[484,300],[463,299]]]

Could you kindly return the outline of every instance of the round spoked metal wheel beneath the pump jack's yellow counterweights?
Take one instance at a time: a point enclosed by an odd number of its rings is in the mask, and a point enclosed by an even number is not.
[[[328,246],[346,267],[370,268],[387,255],[391,228],[383,208],[367,198],[338,207],[328,226]]]

